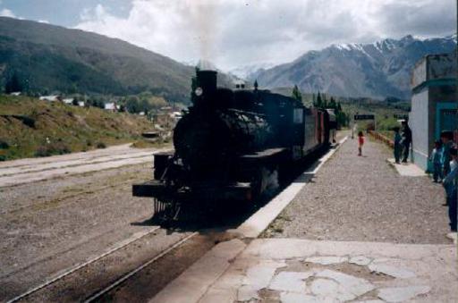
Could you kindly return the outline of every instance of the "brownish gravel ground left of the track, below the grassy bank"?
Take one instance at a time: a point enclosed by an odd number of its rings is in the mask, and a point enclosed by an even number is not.
[[[1,189],[0,301],[150,229],[152,200],[131,196],[150,177],[140,164]]]

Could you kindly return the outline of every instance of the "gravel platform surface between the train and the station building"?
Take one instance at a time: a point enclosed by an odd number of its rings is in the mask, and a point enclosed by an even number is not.
[[[401,177],[391,150],[348,139],[266,232],[267,237],[394,243],[449,243],[444,189],[428,177]]]

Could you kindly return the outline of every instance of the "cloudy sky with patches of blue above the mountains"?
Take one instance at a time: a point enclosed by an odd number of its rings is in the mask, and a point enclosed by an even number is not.
[[[331,44],[456,31],[455,0],[0,0],[0,15],[93,31],[223,70],[286,63]]]

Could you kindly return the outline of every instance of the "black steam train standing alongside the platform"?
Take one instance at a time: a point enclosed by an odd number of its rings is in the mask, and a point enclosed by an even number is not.
[[[133,196],[165,206],[250,201],[330,144],[331,110],[307,108],[256,83],[217,88],[216,78],[214,71],[197,72],[193,105],[174,129],[174,152],[154,155],[154,180],[134,184]]]

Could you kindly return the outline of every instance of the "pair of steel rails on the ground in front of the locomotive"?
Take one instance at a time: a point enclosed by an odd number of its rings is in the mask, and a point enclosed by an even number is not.
[[[42,282],[42,283],[38,284],[37,286],[31,288],[30,290],[27,290],[27,291],[21,293],[20,295],[14,297],[13,299],[9,299],[7,301],[7,303],[13,303],[13,302],[21,301],[23,299],[29,299],[32,295],[36,294],[39,290],[47,289],[47,287],[50,287],[51,285],[55,284],[55,282],[59,282],[59,281],[63,280],[65,277],[67,277],[67,276],[69,276],[71,274],[74,274],[76,272],[79,272],[82,269],[84,269],[85,267],[88,267],[89,265],[96,264],[98,261],[101,261],[104,258],[106,258],[106,257],[108,257],[110,255],[113,255],[116,251],[119,251],[119,250],[121,250],[123,248],[127,248],[128,246],[130,246],[131,244],[135,243],[136,241],[138,241],[140,239],[143,239],[143,238],[145,238],[146,236],[148,236],[150,234],[153,234],[155,231],[158,231],[159,229],[160,229],[160,227],[156,226],[156,227],[154,227],[152,229],[149,229],[148,231],[142,231],[140,233],[134,234],[134,236],[132,236],[128,240],[123,240],[122,242],[120,242],[116,246],[114,246],[113,248],[109,248],[108,250],[106,250],[106,252],[104,252],[104,253],[96,256],[96,257],[91,257],[89,260],[87,260],[87,261],[85,261],[83,263],[80,263],[80,264],[77,264],[77,265],[73,265],[72,267],[69,267],[66,270],[64,270],[64,272],[62,274],[58,274],[55,277],[51,277],[51,278],[47,279],[45,282]],[[174,250],[174,248],[180,247],[183,243],[185,243],[186,241],[190,240],[196,234],[198,234],[198,232],[193,232],[193,233],[185,236],[181,240],[175,241],[173,245],[170,245],[168,248],[165,248],[159,254],[157,254],[155,257],[149,258],[146,262],[143,262],[141,265],[138,265],[135,269],[131,270],[127,274],[123,274],[121,277],[119,277],[116,280],[114,280],[114,282],[112,282],[109,285],[107,285],[104,289],[98,290],[97,292],[95,292],[92,295],[90,295],[90,297],[88,299],[85,299],[85,302],[93,302],[93,301],[103,297],[107,292],[109,292],[110,290],[113,290],[116,286],[118,286],[118,285],[122,284],[123,282],[127,281],[134,274],[139,273],[145,267],[154,264],[158,259],[160,259],[161,257],[164,257],[170,251]]]

